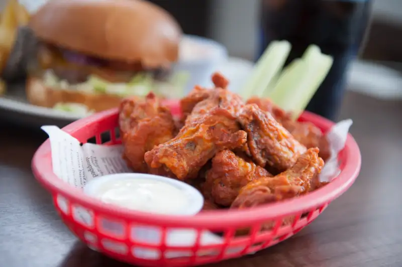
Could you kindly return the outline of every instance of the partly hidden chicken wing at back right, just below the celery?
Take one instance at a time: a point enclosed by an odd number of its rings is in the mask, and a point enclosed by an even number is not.
[[[324,160],[329,158],[327,139],[323,136],[321,129],[313,123],[293,121],[289,112],[285,112],[268,98],[252,97],[247,101],[247,104],[256,104],[260,109],[270,112],[276,121],[281,123],[300,144],[308,149],[319,148],[320,157]]]

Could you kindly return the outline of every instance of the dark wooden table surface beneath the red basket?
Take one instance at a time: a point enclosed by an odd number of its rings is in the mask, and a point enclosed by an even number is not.
[[[311,225],[255,255],[211,266],[402,266],[402,102],[348,93],[362,169],[356,183]],[[127,266],[82,245],[31,173],[46,136],[0,124],[0,266]]]

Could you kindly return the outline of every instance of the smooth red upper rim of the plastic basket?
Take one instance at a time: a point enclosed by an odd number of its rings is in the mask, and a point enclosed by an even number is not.
[[[116,116],[118,109],[110,109],[79,119],[63,127],[62,129],[74,135],[78,129],[88,124],[96,123],[105,117]],[[335,123],[319,115],[305,111],[300,118],[310,121],[320,128],[329,129]],[[302,214],[303,212],[317,209],[328,204],[343,194],[356,180],[361,167],[361,154],[359,147],[349,133],[344,155],[346,161],[339,176],[328,185],[297,198],[277,202],[274,204],[261,205],[244,210],[220,210],[205,211],[195,216],[171,216],[152,214],[147,212],[129,210],[119,206],[105,204],[99,200],[83,194],[82,190],[68,185],[59,179],[52,170],[50,141],[47,139],[35,152],[32,159],[32,171],[36,179],[49,191],[60,193],[74,204],[90,208],[96,212],[102,212],[107,216],[118,217],[123,220],[151,221],[155,225],[162,224],[171,227],[194,227],[194,228],[221,228],[238,227],[250,225],[257,222],[283,218],[291,214]],[[221,226],[221,227],[218,227]]]

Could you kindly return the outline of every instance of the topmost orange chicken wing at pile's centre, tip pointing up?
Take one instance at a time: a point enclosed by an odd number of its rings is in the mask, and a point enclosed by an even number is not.
[[[213,81],[216,86],[227,86],[219,73],[213,75]],[[236,120],[243,105],[241,97],[226,88],[210,90],[208,98],[192,108],[174,139],[145,154],[146,163],[151,168],[169,170],[180,180],[196,177],[217,152],[246,144],[247,134]]]

